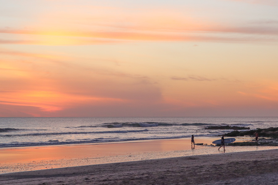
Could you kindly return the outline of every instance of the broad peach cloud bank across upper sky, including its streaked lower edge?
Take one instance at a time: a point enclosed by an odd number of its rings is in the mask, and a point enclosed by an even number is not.
[[[80,8],[82,7],[82,8]],[[99,10],[101,9],[101,11]],[[82,5],[42,13],[36,24],[24,29],[4,27],[0,33],[20,35],[2,39],[6,44],[87,45],[130,41],[277,41],[276,24],[219,23],[200,19],[190,10],[169,8],[132,9]],[[94,11],[95,10],[95,11]],[[74,12],[74,14],[72,13]],[[117,15],[117,16],[114,16]],[[232,33],[232,34],[231,34]],[[265,37],[268,35],[268,37]]]

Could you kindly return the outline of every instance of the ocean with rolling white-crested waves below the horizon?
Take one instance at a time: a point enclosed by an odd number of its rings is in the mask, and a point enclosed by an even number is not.
[[[278,126],[278,117],[0,117],[0,148],[150,139],[215,137],[232,130]]]

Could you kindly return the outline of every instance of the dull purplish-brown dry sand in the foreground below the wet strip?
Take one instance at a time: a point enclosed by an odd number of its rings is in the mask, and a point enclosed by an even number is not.
[[[278,150],[65,167],[0,175],[0,184],[256,184],[278,182]]]

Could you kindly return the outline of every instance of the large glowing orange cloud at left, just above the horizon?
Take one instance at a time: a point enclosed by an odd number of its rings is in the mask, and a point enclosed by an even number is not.
[[[0,104],[18,111],[24,106],[32,107],[36,110],[36,114],[30,113],[32,116],[49,115],[81,105],[157,101],[161,96],[148,76],[67,63],[62,61],[65,60],[63,55],[7,49],[1,49],[0,55],[10,57],[0,60]],[[115,65],[115,60],[100,61]],[[28,111],[21,113],[19,115]]]

